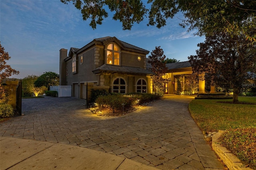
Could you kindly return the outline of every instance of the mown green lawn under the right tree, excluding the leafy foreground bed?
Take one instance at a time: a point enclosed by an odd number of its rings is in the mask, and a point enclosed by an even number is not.
[[[256,104],[256,97],[239,97],[240,102]],[[232,100],[193,100],[190,114],[201,130],[213,132],[234,128],[256,128],[256,105],[217,103]]]

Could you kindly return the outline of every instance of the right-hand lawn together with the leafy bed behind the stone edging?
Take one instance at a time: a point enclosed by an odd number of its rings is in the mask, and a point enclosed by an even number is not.
[[[256,104],[256,97],[239,97],[238,100]],[[256,170],[256,105],[218,103],[232,100],[193,100],[190,114],[203,131],[227,130],[220,138],[246,166]]]

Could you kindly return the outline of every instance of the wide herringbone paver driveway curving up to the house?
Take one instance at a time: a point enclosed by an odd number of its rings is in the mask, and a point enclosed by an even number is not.
[[[122,117],[98,117],[74,97],[22,99],[24,116],[0,136],[77,145],[160,169],[223,169],[188,112],[192,97],[165,96]]]

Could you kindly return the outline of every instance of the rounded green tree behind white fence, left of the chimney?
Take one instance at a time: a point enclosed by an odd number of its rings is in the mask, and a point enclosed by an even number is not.
[[[50,86],[59,85],[59,75],[51,71],[45,72],[36,79],[34,85],[35,87],[45,86],[50,90]]]

